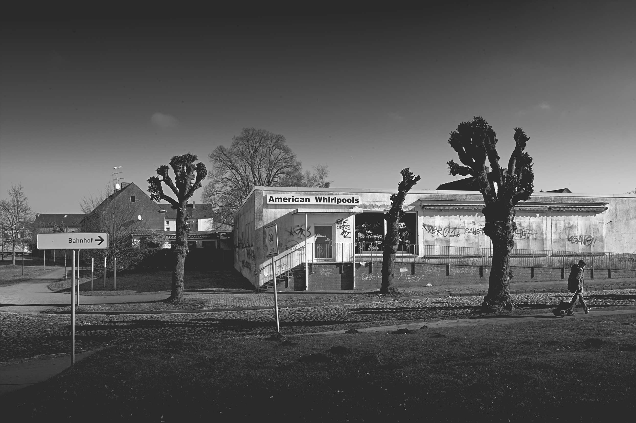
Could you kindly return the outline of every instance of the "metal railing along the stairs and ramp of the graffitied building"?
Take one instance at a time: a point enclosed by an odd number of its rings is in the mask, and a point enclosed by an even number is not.
[[[295,249],[286,250],[275,258],[276,276],[291,276],[294,270],[300,270],[305,262],[382,262],[382,241],[373,243],[304,243]],[[523,250],[515,248],[510,254],[511,267],[527,267],[532,269],[562,269],[567,276],[567,269],[579,260],[584,260],[593,271],[634,271],[636,276],[636,254],[609,252],[567,252],[556,250]],[[411,245],[399,244],[396,252],[397,263],[439,264],[448,266],[492,265],[492,248],[472,248],[443,245]],[[272,264],[268,260],[258,271],[258,286],[272,281]],[[563,276],[562,276],[563,277]]]

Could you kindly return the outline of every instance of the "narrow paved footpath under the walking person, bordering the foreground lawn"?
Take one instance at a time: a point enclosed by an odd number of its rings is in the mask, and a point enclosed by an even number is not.
[[[485,325],[509,325],[511,323],[528,323],[531,321],[544,321],[545,319],[581,319],[590,318],[594,316],[609,316],[611,314],[636,314],[636,310],[600,310],[590,311],[588,314],[579,312],[576,316],[566,316],[565,318],[558,318],[552,313],[548,314],[533,314],[532,316],[516,316],[510,318],[501,317],[488,317],[488,318],[474,318],[474,319],[452,319],[452,320],[439,320],[439,321],[421,321],[417,323],[406,323],[404,325],[388,325],[388,326],[375,326],[373,328],[360,328],[356,329],[357,332],[395,332],[398,329],[418,330],[418,329],[431,329],[431,328],[457,328],[460,326],[485,326]],[[314,332],[314,333],[299,333],[298,335],[340,335],[347,332],[346,330],[330,330],[328,332]]]

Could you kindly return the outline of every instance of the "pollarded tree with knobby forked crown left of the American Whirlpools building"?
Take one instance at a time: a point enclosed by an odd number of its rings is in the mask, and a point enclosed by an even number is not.
[[[201,162],[195,164],[197,160],[197,156],[190,153],[174,156],[170,160],[170,167],[174,171],[174,181],[170,178],[169,167],[166,164],[157,168],[157,175],[161,179],[148,178],[150,198],[155,201],[161,199],[168,201],[172,208],[177,210],[176,240],[172,247],[177,260],[172,271],[172,293],[165,300],[166,302],[183,302],[183,271],[188,255],[188,232],[190,231],[186,206],[188,199],[201,187],[201,182],[207,175],[205,164]],[[163,193],[162,182],[172,190],[176,199]]]

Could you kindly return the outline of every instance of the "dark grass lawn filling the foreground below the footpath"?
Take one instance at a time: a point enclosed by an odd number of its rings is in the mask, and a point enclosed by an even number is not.
[[[139,342],[0,407],[13,421],[625,420],[636,408],[635,321]]]

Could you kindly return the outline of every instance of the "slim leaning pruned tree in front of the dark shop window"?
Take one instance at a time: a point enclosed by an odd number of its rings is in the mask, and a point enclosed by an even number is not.
[[[384,249],[382,250],[382,286],[380,293],[394,294],[397,288],[393,284],[393,267],[396,261],[397,243],[399,243],[399,221],[404,217],[404,199],[411,191],[413,185],[420,180],[419,175],[413,177],[409,168],[403,169],[400,174],[402,180],[397,184],[397,194],[391,195],[391,210],[384,214],[387,221],[387,234],[384,237]]]

